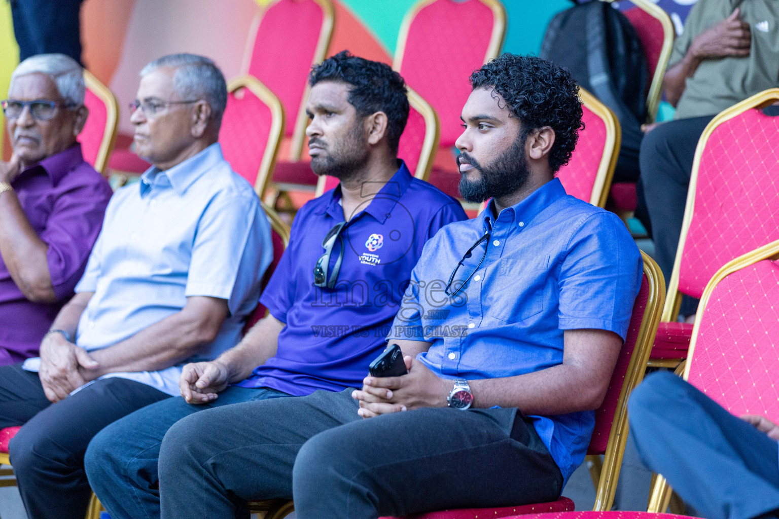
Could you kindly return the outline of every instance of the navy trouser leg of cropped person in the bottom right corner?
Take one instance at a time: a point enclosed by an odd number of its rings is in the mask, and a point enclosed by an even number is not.
[[[654,373],[629,402],[645,465],[708,519],[750,519],[779,509],[779,445],[691,384]]]

